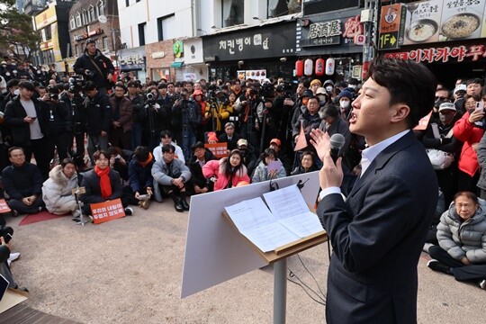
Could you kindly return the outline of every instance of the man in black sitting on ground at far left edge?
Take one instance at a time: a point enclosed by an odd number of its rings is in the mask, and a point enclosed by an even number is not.
[[[44,207],[42,202],[42,175],[39,167],[25,161],[23,148],[8,149],[8,158],[12,166],[2,171],[4,192],[8,194],[8,206],[12,214],[37,213]]]

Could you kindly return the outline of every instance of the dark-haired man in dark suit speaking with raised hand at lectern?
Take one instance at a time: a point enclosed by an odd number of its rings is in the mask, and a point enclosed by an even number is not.
[[[352,103],[349,130],[363,135],[362,173],[345,201],[342,158],[313,130],[323,160],[317,214],[333,247],[330,323],[416,323],[417,265],[436,210],[438,186],[411,130],[434,106],[436,78],[419,63],[378,58]]]

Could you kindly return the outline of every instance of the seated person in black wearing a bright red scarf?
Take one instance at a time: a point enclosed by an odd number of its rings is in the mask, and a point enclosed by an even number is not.
[[[93,159],[94,168],[85,173],[81,182],[86,191],[81,194],[81,201],[85,203],[83,213],[91,215],[92,203],[121,198],[125,214],[133,215],[133,210],[127,207],[129,202],[123,197],[120,174],[110,168],[110,155],[103,150],[97,150],[93,154]]]

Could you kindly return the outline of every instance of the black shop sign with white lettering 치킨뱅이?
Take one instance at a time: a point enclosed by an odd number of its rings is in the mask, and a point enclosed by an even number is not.
[[[204,61],[275,58],[295,51],[295,22],[229,31],[202,38]]]

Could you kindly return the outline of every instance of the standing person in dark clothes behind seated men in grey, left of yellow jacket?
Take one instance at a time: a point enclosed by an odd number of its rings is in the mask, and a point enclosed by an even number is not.
[[[181,89],[179,98],[176,98],[172,106],[172,127],[177,143],[181,144],[186,161],[191,158],[191,148],[196,142],[197,127],[201,123],[202,116],[197,104],[189,100],[186,88]]]

